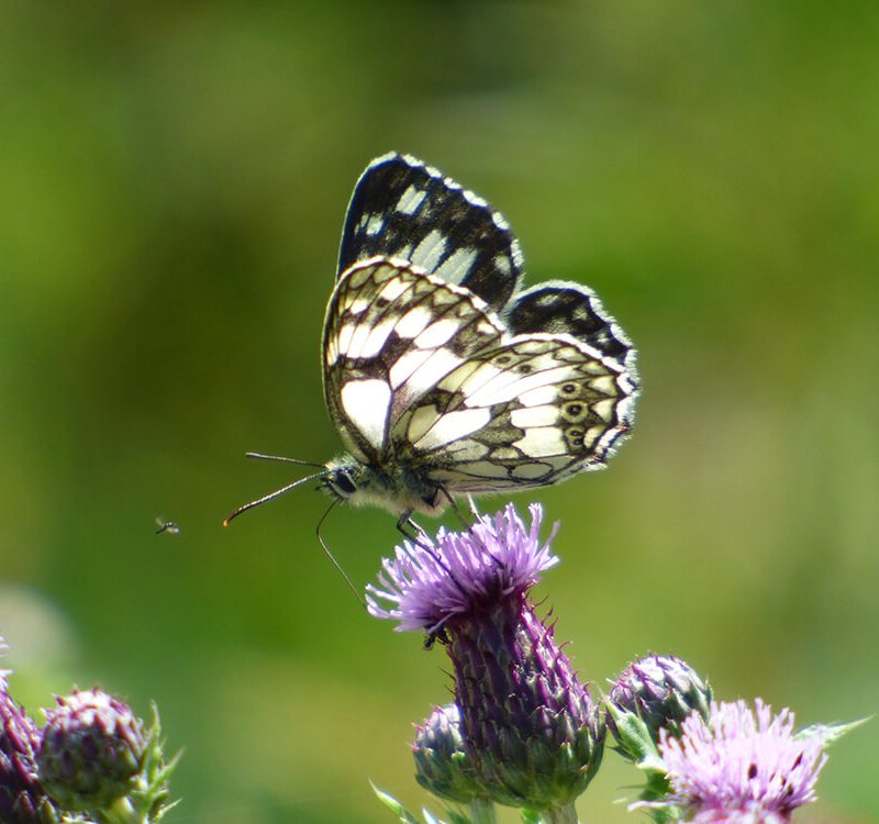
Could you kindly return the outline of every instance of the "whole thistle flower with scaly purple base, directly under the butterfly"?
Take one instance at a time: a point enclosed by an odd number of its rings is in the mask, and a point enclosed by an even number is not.
[[[369,612],[442,637],[455,675],[463,746],[485,792],[532,810],[567,806],[601,760],[604,724],[588,688],[527,599],[558,563],[512,505],[464,533],[398,547],[382,561]],[[552,535],[550,535],[552,539]],[[379,604],[379,600],[389,606]]]

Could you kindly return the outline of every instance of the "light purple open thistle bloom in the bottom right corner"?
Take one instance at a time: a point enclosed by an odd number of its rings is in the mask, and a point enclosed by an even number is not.
[[[820,735],[797,737],[793,713],[772,716],[756,701],[712,702],[708,721],[693,712],[676,738],[659,733],[671,792],[666,803],[699,824],[780,824],[815,800],[826,756]]]

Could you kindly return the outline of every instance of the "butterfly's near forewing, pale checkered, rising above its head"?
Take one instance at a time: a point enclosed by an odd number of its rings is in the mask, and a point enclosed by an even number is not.
[[[346,447],[381,466],[401,415],[503,325],[469,290],[376,257],[337,281],[324,320],[324,397]],[[389,453],[391,449],[391,453]]]

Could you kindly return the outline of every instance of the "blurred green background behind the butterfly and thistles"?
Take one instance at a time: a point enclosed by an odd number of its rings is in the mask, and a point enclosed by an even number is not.
[[[13,694],[155,699],[177,822],[389,822],[367,779],[429,801],[408,742],[448,698],[443,649],[359,611],[313,491],[220,525],[297,476],[245,450],[340,447],[321,320],[351,189],[396,148],[641,350],[609,471],[534,497],[580,673],[670,650],[802,724],[876,713],[877,42],[869,0],[2,3]],[[366,510],[324,535],[358,582],[397,539]],[[876,741],[835,747],[799,820],[879,821]],[[616,761],[583,820],[634,820]]]

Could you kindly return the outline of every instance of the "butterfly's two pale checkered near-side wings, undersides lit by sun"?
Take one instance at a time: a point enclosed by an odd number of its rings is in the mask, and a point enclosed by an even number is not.
[[[569,334],[511,335],[468,290],[401,260],[345,274],[324,353],[352,453],[452,494],[599,468],[630,426],[634,386],[613,357]]]

